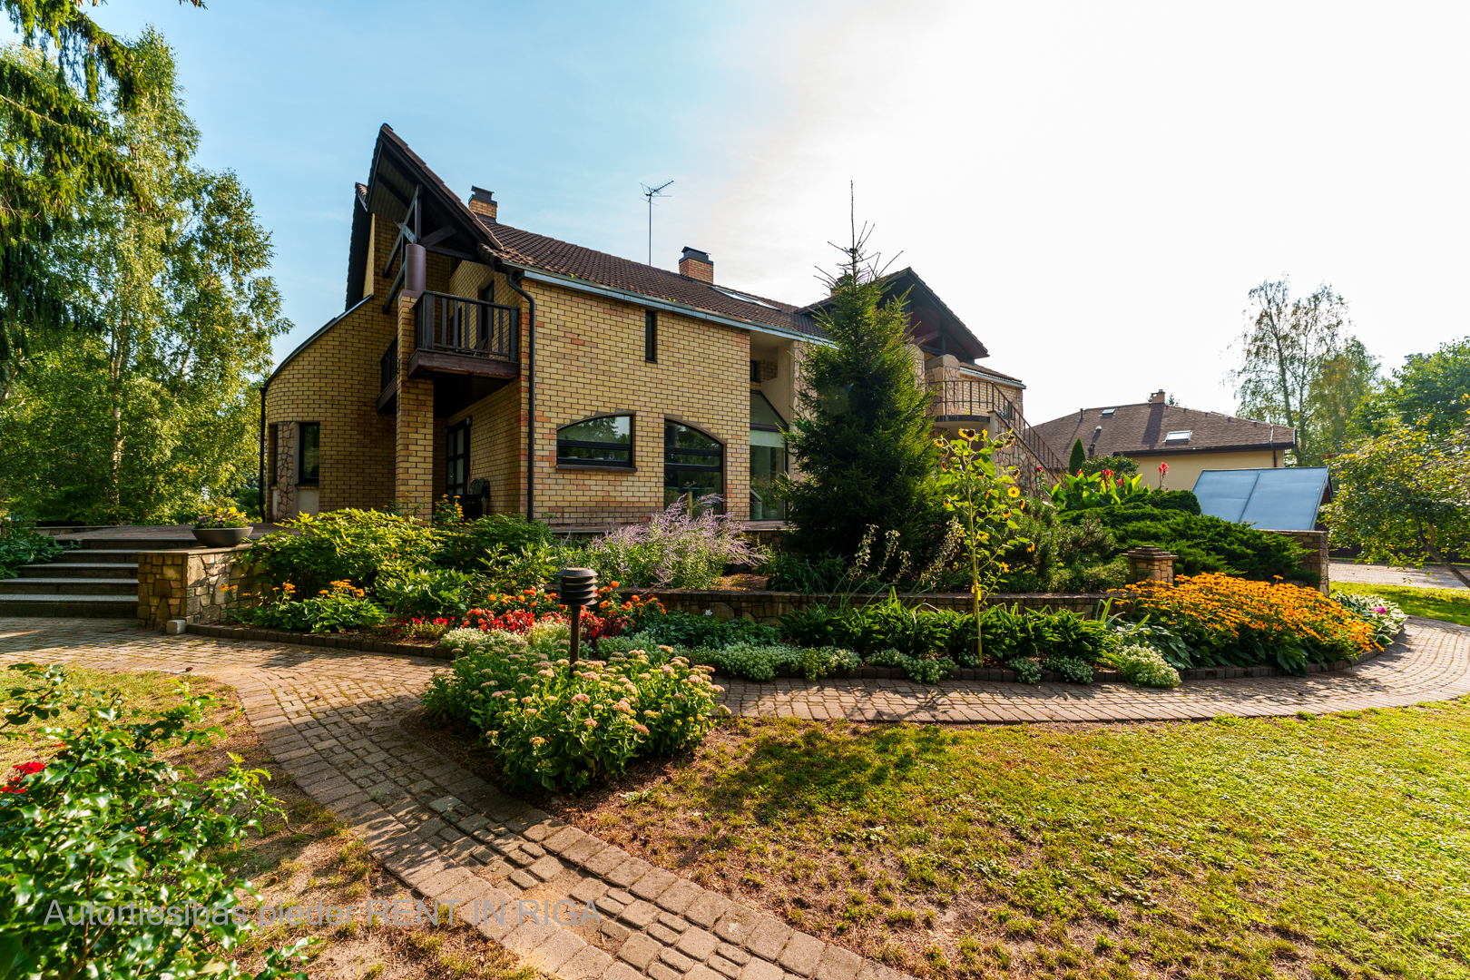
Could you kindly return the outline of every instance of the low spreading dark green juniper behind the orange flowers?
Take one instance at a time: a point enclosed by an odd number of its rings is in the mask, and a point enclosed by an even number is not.
[[[1261,580],[1277,574],[1283,579],[1311,577],[1298,564],[1301,548],[1283,535],[1185,510],[1158,510],[1138,504],[1066,513],[1061,519],[1078,523],[1083,520],[1083,514],[1095,516],[1113,533],[1117,554],[1154,545],[1179,555],[1175,574],[1220,572]]]

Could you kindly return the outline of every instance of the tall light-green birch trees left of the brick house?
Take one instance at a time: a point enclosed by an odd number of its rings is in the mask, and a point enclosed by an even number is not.
[[[38,253],[90,329],[0,344],[0,497],[34,519],[172,523],[229,500],[257,469],[253,378],[291,328],[248,191],[193,162],[172,51],[148,31],[128,57],[143,84],[109,126],[131,194],[87,194]]]

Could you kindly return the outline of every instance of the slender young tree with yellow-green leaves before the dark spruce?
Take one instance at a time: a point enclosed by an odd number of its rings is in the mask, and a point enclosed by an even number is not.
[[[1003,551],[1032,544],[1004,533],[1019,530],[1016,516],[1026,501],[1016,486],[1014,475],[995,461],[995,453],[1008,447],[1010,439],[997,441],[985,430],[960,429],[957,438],[939,436],[933,444],[942,453],[938,483],[944,494],[944,508],[953,514],[951,520],[970,563],[976,663],[985,663],[980,648],[980,599],[1010,572],[1000,560]]]

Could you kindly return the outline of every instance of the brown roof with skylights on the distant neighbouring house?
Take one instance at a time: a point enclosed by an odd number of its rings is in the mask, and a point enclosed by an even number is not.
[[[1111,414],[1104,416],[1104,411],[1111,411]],[[1283,425],[1148,401],[1082,408],[1070,416],[1042,422],[1032,430],[1061,458],[1070,455],[1072,444],[1078,439],[1082,439],[1082,447],[1092,458],[1200,451],[1289,450],[1297,445],[1297,433]],[[1170,432],[1188,432],[1189,436],[1169,442]]]

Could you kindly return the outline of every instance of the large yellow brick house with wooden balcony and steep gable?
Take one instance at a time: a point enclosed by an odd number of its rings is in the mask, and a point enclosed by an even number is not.
[[[353,201],[347,309],[266,383],[268,519],[428,516],[448,495],[470,514],[606,525],[719,494],[741,519],[781,520],[770,483],[788,466],[803,351],[825,342],[822,304],[719,285],[694,248],[670,272],[497,212],[490,191],[451,194],[382,126]],[[1014,429],[1025,447],[1025,385],[973,363],[985,345],[913,270],[886,288],[908,295],[936,425]]]

